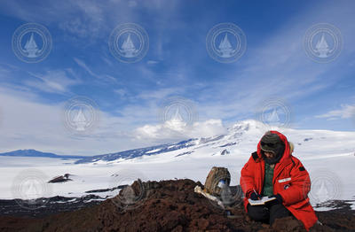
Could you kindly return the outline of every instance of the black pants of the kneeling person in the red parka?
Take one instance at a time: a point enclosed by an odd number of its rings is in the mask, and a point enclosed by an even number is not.
[[[292,216],[292,213],[282,204],[250,205],[248,204],[248,215],[253,220],[270,223],[275,219]]]

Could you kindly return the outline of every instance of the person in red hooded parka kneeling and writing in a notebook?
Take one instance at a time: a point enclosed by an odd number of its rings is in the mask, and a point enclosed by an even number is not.
[[[268,131],[241,169],[244,206],[253,220],[272,225],[277,218],[294,216],[309,230],[317,222],[310,199],[311,180],[301,161],[292,156],[293,144],[278,131]],[[250,205],[248,199],[275,197],[265,205]]]

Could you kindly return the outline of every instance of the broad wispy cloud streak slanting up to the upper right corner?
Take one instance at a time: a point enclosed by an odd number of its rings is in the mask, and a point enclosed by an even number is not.
[[[317,8],[319,11],[314,11]],[[331,9],[314,5],[293,19],[289,18],[260,43],[249,46],[236,64],[219,70],[223,77],[221,80],[209,81],[206,88],[198,89],[200,112],[207,114],[206,118],[250,117],[256,114],[257,105],[270,97],[284,98],[293,104],[339,82],[342,76],[331,73],[338,64],[344,60],[346,62],[347,58],[352,59],[349,49],[343,50],[334,62],[319,66],[306,56],[303,47],[307,28],[328,19],[319,19],[319,12],[325,15],[327,12],[337,13]],[[349,11],[344,9],[347,8],[343,7],[342,12]],[[343,15],[337,15],[336,20],[337,24],[343,26],[342,31],[347,31],[347,39],[351,40],[355,34],[349,31],[351,26],[348,22],[351,19],[348,15],[349,12],[344,12]]]

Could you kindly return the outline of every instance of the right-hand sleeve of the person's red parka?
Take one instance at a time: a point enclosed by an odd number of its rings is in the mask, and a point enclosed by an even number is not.
[[[304,169],[301,161],[292,157],[295,166],[292,167],[290,175],[291,182],[288,189],[279,192],[285,205],[294,205],[307,198],[311,190],[311,179],[308,172]]]

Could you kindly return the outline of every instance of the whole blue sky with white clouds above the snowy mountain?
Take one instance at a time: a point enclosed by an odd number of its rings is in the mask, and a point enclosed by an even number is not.
[[[292,112],[292,128],[355,128],[353,1],[3,1],[0,6],[0,145],[75,154],[122,151],[223,133],[255,119],[277,97]],[[28,64],[12,51],[12,35],[28,22],[46,27],[51,53]],[[247,37],[236,62],[209,57],[206,35],[232,22]],[[107,45],[114,27],[136,23],[149,35],[137,63],[115,59]],[[319,64],[304,51],[317,23],[337,27],[343,50]],[[99,106],[98,129],[75,137],[62,131],[60,111],[75,96]],[[187,135],[164,131],[160,105],[185,97],[198,121]],[[143,134],[144,135],[143,135]]]

